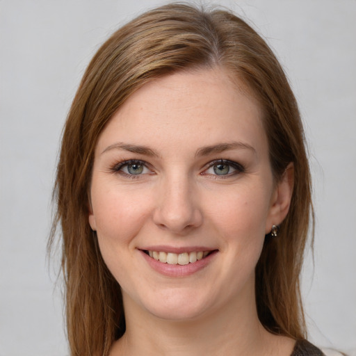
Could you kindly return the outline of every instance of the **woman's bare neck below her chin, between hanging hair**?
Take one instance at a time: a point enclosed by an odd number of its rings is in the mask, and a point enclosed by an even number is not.
[[[133,307],[124,297],[127,330],[111,356],[280,355],[293,341],[267,332],[259,322],[254,296],[191,320],[171,321]],[[289,341],[289,342],[288,342]]]

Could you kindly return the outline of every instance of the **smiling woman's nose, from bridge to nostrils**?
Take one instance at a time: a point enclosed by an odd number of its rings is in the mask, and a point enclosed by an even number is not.
[[[202,225],[203,215],[194,184],[187,177],[165,179],[159,188],[154,223],[175,234],[186,234]]]

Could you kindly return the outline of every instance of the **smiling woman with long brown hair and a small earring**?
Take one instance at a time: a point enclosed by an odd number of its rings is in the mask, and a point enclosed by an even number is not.
[[[235,15],[170,4],[102,45],[55,197],[71,355],[323,355],[300,300],[312,201],[298,106]]]

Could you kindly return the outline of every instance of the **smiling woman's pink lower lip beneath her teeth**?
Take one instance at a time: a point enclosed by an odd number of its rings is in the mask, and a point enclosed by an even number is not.
[[[141,254],[147,261],[147,264],[151,266],[152,269],[156,270],[156,272],[161,273],[161,275],[165,275],[168,277],[187,277],[189,275],[193,275],[197,273],[197,271],[202,270],[202,268],[206,267],[216,256],[218,251],[213,251],[207,257],[200,259],[199,261],[194,262],[193,264],[163,264],[156,259],[149,257],[148,254],[140,250]]]

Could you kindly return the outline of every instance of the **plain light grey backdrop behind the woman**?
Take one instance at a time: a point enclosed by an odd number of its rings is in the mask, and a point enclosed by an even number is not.
[[[205,1],[207,2],[207,1]],[[0,1],[0,356],[67,355],[45,260],[60,131],[99,44],[154,0]],[[303,275],[310,339],[356,348],[356,1],[215,1],[277,52],[305,120],[315,264]]]

